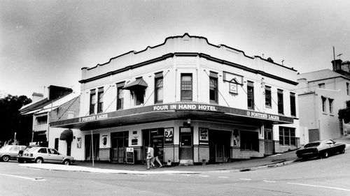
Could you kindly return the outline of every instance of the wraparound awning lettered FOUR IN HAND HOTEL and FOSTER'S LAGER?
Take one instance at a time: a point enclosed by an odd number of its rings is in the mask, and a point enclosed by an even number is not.
[[[76,128],[80,130],[94,130],[116,126],[135,125],[172,120],[200,120],[242,125],[286,124],[293,123],[294,118],[252,112],[232,107],[207,105],[199,103],[173,103],[135,107],[104,114],[94,114],[76,119],[66,119],[50,123],[56,128]]]

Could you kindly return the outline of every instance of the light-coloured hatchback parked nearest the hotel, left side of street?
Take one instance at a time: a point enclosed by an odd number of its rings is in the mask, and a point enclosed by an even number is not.
[[[72,156],[65,156],[56,149],[41,146],[31,146],[23,151],[22,156],[18,155],[19,163],[62,163],[71,165],[74,162]]]

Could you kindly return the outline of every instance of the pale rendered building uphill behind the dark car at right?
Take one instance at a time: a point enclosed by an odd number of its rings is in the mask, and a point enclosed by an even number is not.
[[[301,144],[346,134],[344,123],[338,119],[338,111],[346,107],[345,102],[350,98],[350,62],[337,59],[332,65],[333,70],[297,76]]]

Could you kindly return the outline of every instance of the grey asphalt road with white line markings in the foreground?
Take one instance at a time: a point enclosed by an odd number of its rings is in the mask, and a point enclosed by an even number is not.
[[[94,174],[0,163],[0,195],[350,195],[350,151],[251,172]]]

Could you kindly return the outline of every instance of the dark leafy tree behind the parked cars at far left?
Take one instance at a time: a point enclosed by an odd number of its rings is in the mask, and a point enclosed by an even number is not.
[[[27,96],[11,96],[0,99],[0,142],[16,140],[26,144],[31,140],[32,117],[20,115],[20,108],[31,103]]]

